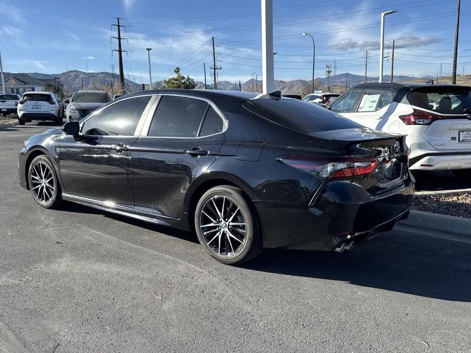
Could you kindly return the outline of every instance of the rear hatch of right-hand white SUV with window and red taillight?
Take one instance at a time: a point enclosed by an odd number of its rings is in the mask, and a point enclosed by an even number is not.
[[[413,113],[401,115],[407,125],[429,125],[423,137],[436,150],[471,150],[471,87],[430,85],[412,89]]]

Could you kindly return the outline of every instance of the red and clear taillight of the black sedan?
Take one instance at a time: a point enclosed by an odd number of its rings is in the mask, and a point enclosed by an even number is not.
[[[378,164],[368,157],[314,157],[285,155],[276,158],[280,163],[316,175],[323,179],[338,179],[372,173]]]

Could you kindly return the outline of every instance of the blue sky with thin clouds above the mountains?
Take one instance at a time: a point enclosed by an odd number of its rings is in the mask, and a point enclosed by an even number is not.
[[[471,2],[461,2],[458,73],[471,73]],[[275,79],[309,79],[312,41],[316,41],[316,77],[325,65],[337,73],[377,76],[380,12],[386,17],[386,46],[396,40],[395,75],[450,74],[457,0],[273,0]],[[183,74],[208,81],[215,37],[218,80],[261,76],[259,0],[115,0],[57,2],[0,0],[0,49],[9,72],[60,73],[66,70],[118,71],[114,17],[122,17],[125,76],[148,82],[146,47],[151,47],[152,78]],[[391,50],[385,48],[385,54]],[[113,54],[113,55],[112,55]],[[88,58],[87,60],[85,58]],[[389,74],[391,62],[385,61]],[[254,74],[254,76],[255,76]]]

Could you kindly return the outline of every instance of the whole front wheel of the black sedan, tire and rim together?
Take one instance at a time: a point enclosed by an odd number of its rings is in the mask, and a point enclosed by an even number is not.
[[[46,171],[46,166],[48,171]],[[44,176],[42,177],[42,175]],[[47,184],[38,180],[38,176],[40,179],[48,180]],[[51,181],[52,183],[50,183]],[[49,161],[49,158],[44,155],[40,155],[33,159],[28,170],[28,182],[34,200],[41,207],[44,207],[45,209],[54,209],[59,207],[62,202],[62,189],[57,179],[56,170],[54,170],[54,166]],[[53,188],[51,188],[50,185],[52,185]],[[45,190],[43,191],[43,189]],[[44,197],[44,200],[41,199],[41,196]]]

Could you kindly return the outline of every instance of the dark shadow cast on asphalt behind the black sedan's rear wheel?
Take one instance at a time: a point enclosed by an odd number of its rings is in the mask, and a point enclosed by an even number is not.
[[[470,302],[470,253],[471,245],[395,231],[343,253],[265,249],[242,267]]]

